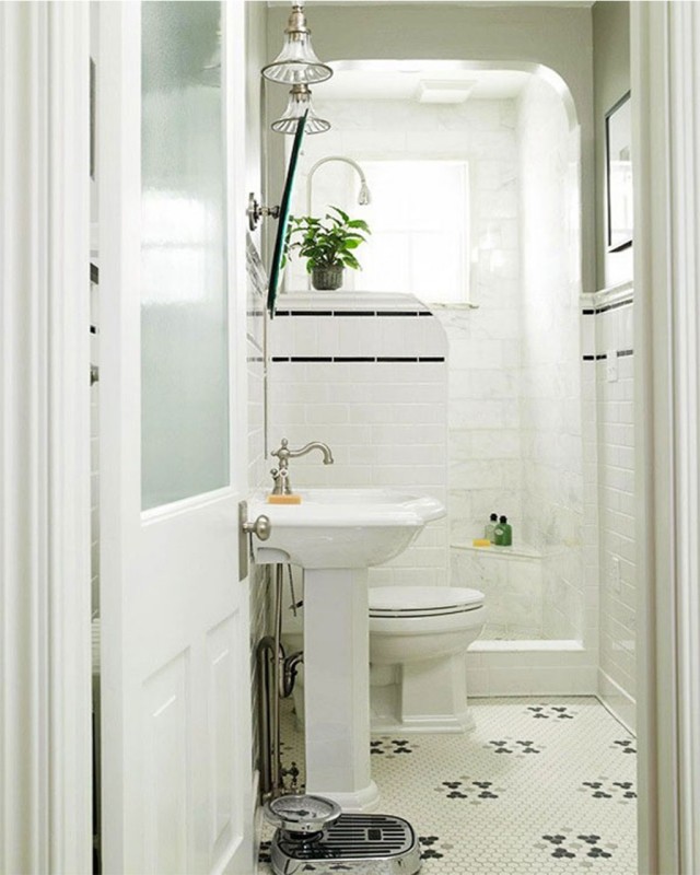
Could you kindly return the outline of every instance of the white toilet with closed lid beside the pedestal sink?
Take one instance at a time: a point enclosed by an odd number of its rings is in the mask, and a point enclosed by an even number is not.
[[[370,590],[372,732],[465,732],[474,726],[464,655],[485,616],[478,590]]]

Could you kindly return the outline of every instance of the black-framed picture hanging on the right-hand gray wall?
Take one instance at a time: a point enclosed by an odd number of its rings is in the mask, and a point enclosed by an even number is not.
[[[630,92],[605,116],[607,244],[617,253],[632,245],[632,114]]]

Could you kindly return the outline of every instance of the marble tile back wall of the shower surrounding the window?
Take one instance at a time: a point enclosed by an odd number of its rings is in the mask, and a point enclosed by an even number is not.
[[[318,90],[320,94],[320,89]],[[332,129],[304,142],[293,210],[305,211],[308,170],[320,158],[467,161],[470,188],[470,287],[478,310],[431,310],[450,345],[450,525],[463,541],[480,535],[491,511],[522,528],[520,448],[521,277],[518,159],[514,100],[458,105],[409,101],[316,100]],[[372,180],[370,178],[370,187]],[[316,212],[338,205],[361,215],[358,177],[343,164],[314,175]],[[427,257],[430,257],[427,254]],[[347,288],[361,288],[349,271]],[[290,266],[288,288],[305,289],[306,275]],[[343,287],[345,288],[345,287]],[[397,290],[400,291],[400,290]]]

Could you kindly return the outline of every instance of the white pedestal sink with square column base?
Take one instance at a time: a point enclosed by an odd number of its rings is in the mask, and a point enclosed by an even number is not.
[[[300,490],[301,504],[268,504],[256,493],[248,518],[266,514],[258,563],[304,571],[306,792],[345,810],[376,807],[370,770],[368,571],[402,552],[425,523],[444,516],[432,498],[387,489]]]

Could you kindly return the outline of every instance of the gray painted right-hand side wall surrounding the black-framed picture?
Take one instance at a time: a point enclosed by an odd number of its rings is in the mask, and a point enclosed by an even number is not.
[[[597,288],[632,279],[631,249],[607,254],[605,114],[630,90],[630,4],[605,0],[593,7],[593,80],[595,112],[595,214]]]

